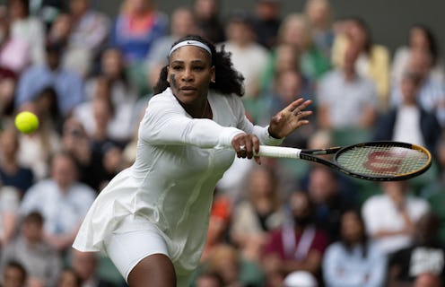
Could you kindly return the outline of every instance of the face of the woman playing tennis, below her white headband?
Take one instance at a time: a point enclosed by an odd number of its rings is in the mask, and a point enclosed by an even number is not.
[[[176,49],[170,57],[167,82],[173,94],[184,104],[200,103],[214,80],[210,55],[196,46]]]

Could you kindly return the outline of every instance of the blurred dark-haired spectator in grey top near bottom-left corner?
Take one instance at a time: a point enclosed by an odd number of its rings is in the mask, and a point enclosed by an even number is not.
[[[20,262],[28,274],[29,287],[55,286],[62,271],[60,254],[43,238],[43,223],[40,213],[28,213],[20,234],[2,252],[2,270],[7,262]]]

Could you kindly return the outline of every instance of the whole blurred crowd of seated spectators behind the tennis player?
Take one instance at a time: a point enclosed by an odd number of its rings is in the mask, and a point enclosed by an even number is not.
[[[90,0],[7,0],[0,6],[0,283],[125,286],[106,257],[71,248],[95,196],[135,161],[136,132],[171,44],[188,34],[231,52],[249,119],[298,97],[310,125],[284,140],[327,148],[415,143],[432,168],[375,183],[303,161],[235,159],[214,191],[193,286],[445,284],[445,65],[436,35],[412,23],[389,51],[360,15],[328,0],[282,11],[256,0],[221,13],[194,0],[171,13],[123,0],[115,17]],[[22,110],[39,117],[24,135]]]

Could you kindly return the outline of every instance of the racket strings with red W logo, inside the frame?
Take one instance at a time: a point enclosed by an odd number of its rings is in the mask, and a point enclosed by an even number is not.
[[[428,164],[429,155],[406,147],[356,146],[338,154],[336,161],[346,170],[365,176],[393,177],[421,170]]]

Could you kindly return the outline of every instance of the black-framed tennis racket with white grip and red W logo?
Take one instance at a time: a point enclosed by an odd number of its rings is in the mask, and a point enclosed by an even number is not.
[[[333,155],[331,160],[320,157],[327,154]],[[257,155],[314,161],[354,178],[374,181],[414,178],[432,164],[432,156],[427,149],[400,142],[357,143],[319,150],[261,145]]]

